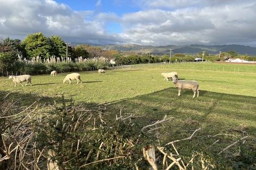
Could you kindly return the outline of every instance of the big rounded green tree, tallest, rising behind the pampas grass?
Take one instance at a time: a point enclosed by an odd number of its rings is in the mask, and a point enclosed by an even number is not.
[[[22,46],[25,48],[27,58],[41,56],[44,59],[51,56],[51,42],[41,32],[28,35],[22,41]]]

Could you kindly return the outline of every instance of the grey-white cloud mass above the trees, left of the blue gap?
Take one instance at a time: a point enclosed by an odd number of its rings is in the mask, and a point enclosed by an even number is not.
[[[115,43],[117,35],[106,35],[105,23],[117,20],[114,14],[73,11],[68,5],[53,0],[0,0],[0,36],[24,38],[42,32],[59,35],[65,41]],[[103,20],[105,19],[105,20]]]

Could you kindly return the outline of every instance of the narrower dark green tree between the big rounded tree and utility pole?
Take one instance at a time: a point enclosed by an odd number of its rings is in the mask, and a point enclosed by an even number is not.
[[[51,45],[51,55],[58,57],[66,56],[66,45],[60,36],[50,36],[49,42]]]

